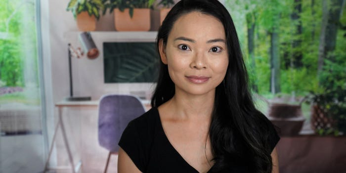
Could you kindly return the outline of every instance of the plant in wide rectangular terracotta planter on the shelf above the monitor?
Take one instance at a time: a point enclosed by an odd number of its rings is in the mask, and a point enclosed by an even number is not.
[[[155,0],[109,0],[117,31],[149,31],[150,8]]]

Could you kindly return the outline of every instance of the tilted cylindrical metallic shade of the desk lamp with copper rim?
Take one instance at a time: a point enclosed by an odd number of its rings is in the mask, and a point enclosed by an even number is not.
[[[89,32],[82,32],[79,35],[79,40],[83,46],[84,51],[87,52],[87,57],[89,59],[95,59],[98,57],[99,51]]]

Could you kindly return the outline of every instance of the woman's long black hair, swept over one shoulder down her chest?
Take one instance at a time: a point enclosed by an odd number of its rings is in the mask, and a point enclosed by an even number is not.
[[[181,0],[163,21],[157,36],[164,46],[174,22],[192,11],[216,17],[224,27],[228,50],[228,67],[224,80],[216,87],[214,110],[209,129],[215,172],[233,166],[244,167],[248,172],[270,173],[272,170],[269,130],[270,122],[260,113],[248,88],[248,74],[242,56],[234,23],[227,9],[218,0]],[[196,28],[198,29],[198,28]],[[160,73],[151,105],[158,107],[175,93],[168,66],[160,61]],[[271,149],[270,149],[271,148]]]

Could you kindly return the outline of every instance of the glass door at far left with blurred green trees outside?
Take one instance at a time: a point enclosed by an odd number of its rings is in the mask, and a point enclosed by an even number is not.
[[[39,0],[0,3],[0,172],[43,171]]]

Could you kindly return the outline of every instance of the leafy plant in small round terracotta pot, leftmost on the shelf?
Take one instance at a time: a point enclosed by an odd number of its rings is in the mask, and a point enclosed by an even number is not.
[[[66,10],[72,11],[80,31],[95,31],[96,20],[105,13],[106,0],[70,0]]]

